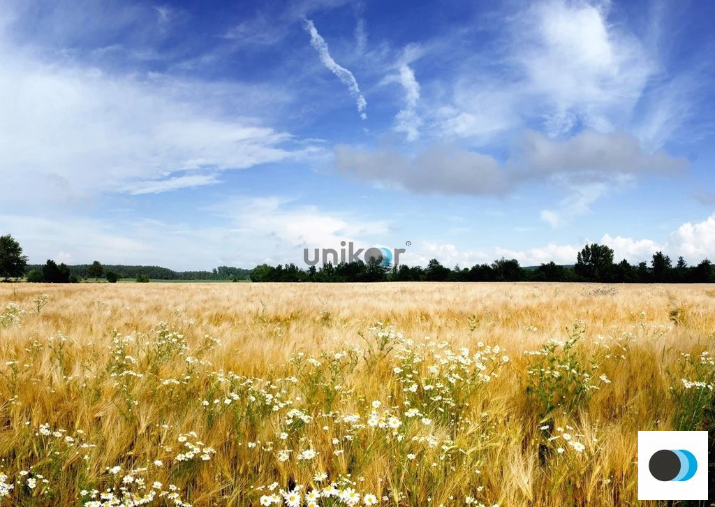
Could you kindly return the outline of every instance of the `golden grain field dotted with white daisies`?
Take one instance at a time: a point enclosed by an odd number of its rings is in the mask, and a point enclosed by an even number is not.
[[[638,430],[715,428],[714,308],[708,285],[1,284],[0,505],[636,505]]]

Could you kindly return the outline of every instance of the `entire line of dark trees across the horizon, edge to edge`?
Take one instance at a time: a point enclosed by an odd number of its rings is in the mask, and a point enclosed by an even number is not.
[[[548,262],[522,267],[516,259],[495,260],[491,264],[450,268],[432,259],[427,267],[383,266],[376,259],[368,262],[327,263],[320,268],[301,269],[295,264],[258,265],[252,270],[219,266],[211,271],[174,271],[159,266],[102,265],[68,266],[47,260],[44,265],[29,265],[19,243],[10,235],[0,236],[0,278],[25,277],[28,282],[69,283],[99,277],[109,282],[122,278],[137,282],[153,280],[251,280],[252,282],[609,282],[609,283],[711,283],[715,266],[708,259],[689,266],[683,257],[673,262],[656,252],[651,262],[631,265],[628,260],[613,262],[613,250],[593,243],[576,255],[576,264]]]

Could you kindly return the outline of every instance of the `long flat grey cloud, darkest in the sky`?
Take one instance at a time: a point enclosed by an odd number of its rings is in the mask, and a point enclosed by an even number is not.
[[[557,142],[528,132],[521,149],[503,165],[489,155],[447,144],[412,157],[386,149],[335,147],[338,172],[415,192],[503,195],[526,180],[577,181],[577,195],[563,203],[567,211],[585,209],[609,184],[622,182],[629,174],[668,173],[685,165],[684,159],[663,151],[646,154],[635,139],[620,133],[583,132]],[[545,219],[553,221],[553,216],[547,212]]]

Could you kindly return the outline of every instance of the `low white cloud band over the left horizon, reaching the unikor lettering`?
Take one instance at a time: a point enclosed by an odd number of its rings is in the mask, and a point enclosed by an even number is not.
[[[340,249],[341,241],[352,241],[356,248],[380,245],[380,238],[390,230],[385,220],[297,206],[279,197],[225,200],[193,215],[193,222],[164,222],[130,213],[109,222],[69,213],[47,217],[0,213],[0,231],[13,235],[32,263],[54,257],[78,264],[99,260],[210,270],[217,265],[253,267],[262,262],[302,265],[303,248]]]

